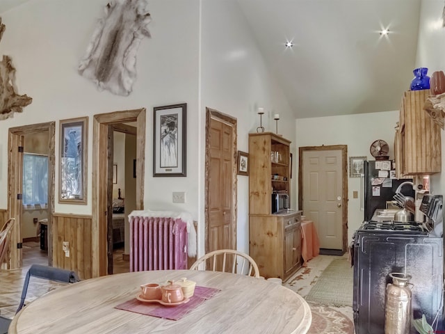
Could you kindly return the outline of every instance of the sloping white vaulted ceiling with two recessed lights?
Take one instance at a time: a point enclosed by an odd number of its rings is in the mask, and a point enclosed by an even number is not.
[[[0,14],[26,1],[0,0]],[[237,1],[296,118],[398,109],[416,65],[421,0]]]

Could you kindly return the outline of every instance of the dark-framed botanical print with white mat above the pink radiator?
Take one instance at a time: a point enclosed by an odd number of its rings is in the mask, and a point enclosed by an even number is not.
[[[187,104],[153,108],[153,176],[186,176]]]

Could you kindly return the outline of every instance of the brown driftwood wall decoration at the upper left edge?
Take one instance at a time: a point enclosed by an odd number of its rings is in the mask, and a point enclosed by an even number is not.
[[[0,17],[0,40],[5,31],[5,25],[1,23]],[[3,55],[0,61],[0,120],[6,120],[21,113],[23,107],[27,106],[33,99],[25,95],[15,93],[15,68],[10,56]]]

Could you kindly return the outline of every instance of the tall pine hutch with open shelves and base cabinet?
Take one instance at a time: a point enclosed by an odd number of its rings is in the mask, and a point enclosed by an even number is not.
[[[286,280],[302,263],[301,212],[271,209],[273,191],[290,198],[290,144],[271,132],[249,134],[249,254],[265,278]]]

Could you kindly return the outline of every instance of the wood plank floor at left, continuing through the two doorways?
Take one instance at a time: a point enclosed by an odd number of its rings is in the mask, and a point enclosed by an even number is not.
[[[31,264],[48,264],[48,256],[44,250],[40,250],[38,242],[29,241],[23,244],[23,267],[13,270],[0,269],[0,314],[3,317],[12,318],[19,305],[20,296],[26,271]],[[129,262],[122,260],[124,248],[113,252],[113,267],[115,273],[126,273],[129,271]],[[63,286],[61,283],[48,282],[39,278],[32,278],[26,294],[26,301],[33,301],[38,296],[45,294],[57,287]]]

